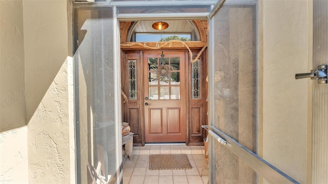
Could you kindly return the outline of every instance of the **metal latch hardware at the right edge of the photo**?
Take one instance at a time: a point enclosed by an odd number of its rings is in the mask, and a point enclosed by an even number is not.
[[[319,65],[318,69],[311,70],[311,73],[295,74],[295,79],[303,79],[308,77],[318,80],[318,84],[327,84],[327,65]]]

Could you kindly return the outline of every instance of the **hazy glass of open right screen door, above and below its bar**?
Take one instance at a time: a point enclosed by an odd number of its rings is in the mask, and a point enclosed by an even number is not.
[[[209,81],[214,85],[210,97],[214,116],[210,122],[256,153],[256,5],[223,4],[210,20],[210,27],[213,48]],[[255,171],[211,140],[213,183],[257,182]]]

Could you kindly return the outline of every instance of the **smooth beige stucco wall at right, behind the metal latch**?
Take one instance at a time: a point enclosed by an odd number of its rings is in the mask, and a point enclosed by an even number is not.
[[[259,153],[298,182],[306,181],[308,79],[295,80],[309,70],[309,2],[259,3],[260,107]],[[261,119],[262,118],[262,119]]]

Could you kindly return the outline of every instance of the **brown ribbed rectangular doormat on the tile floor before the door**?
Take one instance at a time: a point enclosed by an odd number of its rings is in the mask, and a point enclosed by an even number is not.
[[[149,170],[192,169],[187,154],[149,155]]]

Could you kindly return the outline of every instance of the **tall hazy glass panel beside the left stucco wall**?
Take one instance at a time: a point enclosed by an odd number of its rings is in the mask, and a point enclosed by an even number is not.
[[[88,183],[87,166],[101,164],[108,183],[120,183],[121,132],[115,131],[113,8],[74,8],[77,183]],[[133,65],[131,63],[131,65]],[[131,79],[134,78],[131,72]],[[131,87],[134,83],[131,83]],[[132,90],[131,90],[132,91]],[[119,150],[118,150],[119,149]],[[117,161],[118,160],[118,161]]]

